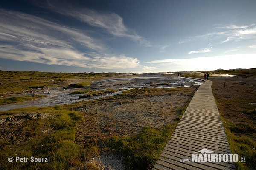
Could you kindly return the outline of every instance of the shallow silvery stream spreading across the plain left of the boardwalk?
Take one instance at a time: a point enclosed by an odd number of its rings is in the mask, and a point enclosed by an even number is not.
[[[162,83],[169,83],[169,85],[160,85]],[[23,102],[20,104],[13,105],[3,105],[0,107],[0,111],[8,111],[15,108],[24,108],[30,106],[44,107],[44,106],[54,106],[61,104],[70,104],[75,102],[80,102],[82,100],[93,100],[100,99],[107,96],[113,96],[121,94],[125,90],[134,89],[134,88],[175,88],[184,85],[185,87],[201,85],[203,82],[198,79],[188,79],[183,77],[165,77],[163,74],[138,74],[136,77],[126,77],[126,78],[116,78],[108,80],[99,80],[91,82],[90,86],[84,88],[76,89],[67,89],[63,90],[62,88],[45,88],[45,92],[38,91],[33,94],[46,94],[47,97],[40,99],[35,99],[32,101]],[[156,84],[151,86],[152,84]],[[104,90],[104,89],[117,89],[119,91],[113,94],[106,94],[102,96],[93,96],[90,98],[78,99],[80,94],[69,95],[69,93],[78,90],[91,89],[94,88],[94,91]],[[49,89],[49,90],[48,90]],[[23,94],[24,95],[24,94]],[[32,94],[25,94],[32,95]]]

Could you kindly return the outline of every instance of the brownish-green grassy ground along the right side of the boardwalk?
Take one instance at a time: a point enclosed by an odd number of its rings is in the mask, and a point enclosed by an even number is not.
[[[247,78],[246,78],[247,79]],[[227,134],[232,153],[245,157],[246,162],[237,162],[237,170],[253,170],[256,167],[256,92],[253,83],[229,81],[224,89],[222,82],[212,80],[212,91]],[[248,80],[247,80],[248,81]],[[243,83],[244,85],[241,85]]]

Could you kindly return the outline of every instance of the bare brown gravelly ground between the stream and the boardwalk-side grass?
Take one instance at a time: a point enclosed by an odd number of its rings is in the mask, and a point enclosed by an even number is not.
[[[151,90],[145,94],[143,89],[135,89],[129,95],[88,101],[77,108],[85,120],[78,126],[76,142],[97,144],[110,136],[133,135],[143,126],[166,125],[177,117],[197,88],[183,87],[178,91],[167,88],[154,94],[150,94]]]

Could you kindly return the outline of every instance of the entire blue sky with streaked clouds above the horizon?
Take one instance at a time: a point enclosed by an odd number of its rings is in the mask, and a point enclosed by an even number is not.
[[[256,68],[256,0],[1,0],[0,70]]]

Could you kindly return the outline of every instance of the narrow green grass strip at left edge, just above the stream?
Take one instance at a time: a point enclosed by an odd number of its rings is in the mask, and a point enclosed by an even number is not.
[[[0,99],[0,105],[7,105],[7,104],[25,102],[25,101],[28,101],[28,100],[33,100],[33,99],[41,98],[41,97],[47,97],[47,95],[36,94],[36,95],[30,95],[30,96],[8,97],[8,98]]]

